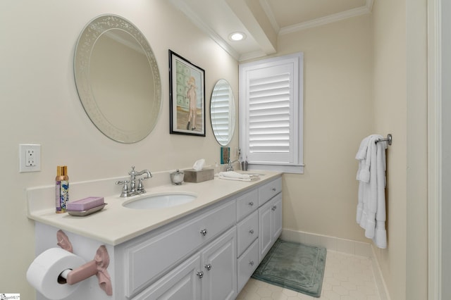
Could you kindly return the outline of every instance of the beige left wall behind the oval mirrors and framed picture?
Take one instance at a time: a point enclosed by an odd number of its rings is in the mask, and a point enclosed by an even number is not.
[[[160,68],[163,108],[142,142],[119,144],[89,121],[73,79],[73,53],[83,27],[113,13],[147,37]],[[169,134],[168,49],[206,71],[206,117],[219,78],[237,100],[237,61],[175,11],[166,0],[14,1],[0,3],[0,292],[35,299],[25,279],[35,258],[34,223],[25,213],[25,188],[53,185],[56,165],[68,165],[72,182],[126,175],[131,165],[154,172],[219,161],[209,120],[206,137]],[[42,171],[18,173],[18,144],[42,145]],[[231,146],[237,146],[235,135]],[[113,182],[111,182],[113,185]],[[145,182],[152,189],[152,180]],[[128,220],[118,220],[121,222]]]

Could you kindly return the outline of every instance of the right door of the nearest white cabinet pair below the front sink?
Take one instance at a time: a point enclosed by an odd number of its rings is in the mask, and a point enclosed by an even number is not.
[[[237,296],[236,241],[234,226],[202,251],[202,299],[225,300]]]

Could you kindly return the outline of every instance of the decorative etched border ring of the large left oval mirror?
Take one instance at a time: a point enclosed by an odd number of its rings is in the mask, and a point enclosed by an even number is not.
[[[142,125],[137,125],[131,131],[120,130],[115,127],[111,120],[107,120],[102,114],[99,106],[97,105],[94,94],[92,94],[92,85],[89,82],[89,63],[91,58],[92,49],[97,42],[97,39],[105,32],[109,30],[118,29],[128,32],[142,47],[144,54],[147,56],[149,67],[152,69],[152,75],[154,79],[154,94],[149,101],[155,101],[152,105],[155,109],[153,123],[149,124],[149,128],[144,128]],[[89,116],[89,119],[106,137],[113,139],[116,142],[121,143],[135,143],[144,139],[154,129],[161,111],[162,94],[161,94],[161,77],[159,73],[158,64],[154,52],[147,42],[147,39],[142,35],[142,32],[132,25],[128,20],[125,20],[118,15],[99,15],[90,21],[82,30],[80,37],[78,38],[77,45],[75,46],[74,55],[74,75],[75,85],[77,87],[78,96],[82,103],[85,112]],[[150,118],[150,116],[149,116]]]

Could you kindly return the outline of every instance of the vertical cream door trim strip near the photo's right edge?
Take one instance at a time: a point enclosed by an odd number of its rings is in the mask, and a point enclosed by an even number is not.
[[[428,299],[441,299],[441,8],[428,1]]]

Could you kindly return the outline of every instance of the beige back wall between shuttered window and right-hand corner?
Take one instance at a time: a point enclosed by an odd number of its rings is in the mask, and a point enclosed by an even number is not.
[[[285,174],[283,227],[367,242],[355,221],[355,154],[373,130],[371,18],[363,15],[278,41],[304,52],[303,175]]]

